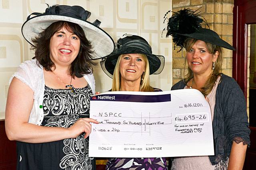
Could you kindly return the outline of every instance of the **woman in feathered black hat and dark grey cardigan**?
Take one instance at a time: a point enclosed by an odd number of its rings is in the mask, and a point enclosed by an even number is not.
[[[250,144],[246,101],[236,81],[221,73],[223,49],[235,50],[218,34],[202,28],[198,13],[174,12],[168,20],[168,35],[174,45],[186,49],[188,74],[172,90],[194,88],[208,100],[212,113],[213,156],[177,157],[172,170],[242,170]]]

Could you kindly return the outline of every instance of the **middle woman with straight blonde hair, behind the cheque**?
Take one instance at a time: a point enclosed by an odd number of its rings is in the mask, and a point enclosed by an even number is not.
[[[149,83],[150,74],[159,74],[164,57],[153,55],[148,42],[137,35],[126,35],[116,43],[116,49],[100,62],[102,69],[113,78],[111,91],[158,92]],[[165,158],[111,158],[106,170],[154,169],[166,170]]]

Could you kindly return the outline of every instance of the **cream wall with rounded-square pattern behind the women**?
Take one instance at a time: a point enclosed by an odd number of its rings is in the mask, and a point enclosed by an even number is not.
[[[150,76],[151,86],[170,90],[172,86],[172,44],[161,37],[164,14],[172,0],[0,0],[0,119],[4,116],[9,78],[20,63],[32,59],[33,51],[21,34],[22,23],[32,12],[44,12],[46,4],[79,5],[92,12],[88,19],[102,21],[100,27],[116,41],[124,33],[144,37],[154,54],[165,56],[161,74]],[[99,61],[98,61],[99,62]],[[110,89],[112,79],[100,65],[94,68],[96,91]]]

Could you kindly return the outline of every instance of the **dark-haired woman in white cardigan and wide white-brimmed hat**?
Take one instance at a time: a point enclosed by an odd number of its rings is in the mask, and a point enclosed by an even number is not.
[[[109,55],[111,37],[86,21],[80,6],[52,6],[22,26],[35,59],[11,78],[6,134],[17,141],[18,170],[92,170],[88,157],[90,96],[95,93],[91,59]],[[86,34],[86,35],[85,35]]]

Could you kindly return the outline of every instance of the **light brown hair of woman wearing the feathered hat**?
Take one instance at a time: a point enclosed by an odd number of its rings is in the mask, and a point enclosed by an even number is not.
[[[184,43],[184,47],[186,48],[186,51],[189,51],[194,43],[196,43],[197,39],[193,38],[188,38],[186,39]],[[219,55],[217,60],[215,61],[215,68],[212,70],[212,74],[209,76],[208,80],[204,84],[204,86],[201,88],[201,92],[204,96],[207,96],[211,91],[212,88],[215,85],[215,82],[221,74],[221,66],[222,66],[222,54],[223,54],[223,48],[219,47],[217,45],[214,45],[212,43],[205,42],[206,49],[209,51],[210,54],[214,55],[216,51],[218,51]],[[212,63],[213,64],[213,63]],[[186,65],[186,64],[185,64]],[[188,74],[185,75],[184,82],[187,84],[191,78],[193,78],[193,72],[192,70],[188,67]]]

